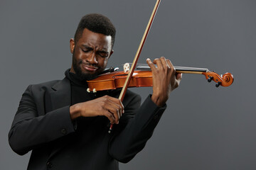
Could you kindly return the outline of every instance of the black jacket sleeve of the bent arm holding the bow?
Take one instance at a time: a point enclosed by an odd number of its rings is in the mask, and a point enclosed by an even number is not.
[[[32,85],[28,86],[24,92],[9,132],[11,149],[21,155],[75,131],[70,119],[70,106],[38,115],[31,88]]]

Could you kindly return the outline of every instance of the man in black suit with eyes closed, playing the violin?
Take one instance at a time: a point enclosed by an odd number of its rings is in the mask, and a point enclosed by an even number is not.
[[[87,92],[87,80],[107,66],[113,53],[115,28],[100,14],[82,17],[65,79],[28,86],[9,132],[9,144],[17,154],[32,150],[28,169],[119,169],[129,162],[151,137],[172,90],[181,81],[164,57],[146,60],[153,74],[153,94],[142,106],[141,98],[120,89]],[[157,65],[157,67],[154,66]],[[109,134],[110,123],[115,124]]]

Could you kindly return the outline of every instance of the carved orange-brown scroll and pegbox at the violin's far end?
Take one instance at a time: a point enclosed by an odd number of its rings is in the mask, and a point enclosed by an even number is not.
[[[216,87],[230,86],[231,84],[233,84],[233,81],[234,81],[233,75],[228,72],[223,75],[219,75],[215,72],[203,72],[202,74],[204,74],[206,76],[206,79],[208,80],[208,82],[210,82],[212,80],[215,81]]]

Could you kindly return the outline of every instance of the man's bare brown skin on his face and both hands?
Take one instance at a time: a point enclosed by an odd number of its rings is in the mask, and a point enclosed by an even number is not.
[[[83,30],[81,38],[75,43],[70,39],[70,52],[73,60],[82,74],[99,74],[107,66],[107,61],[113,53],[111,47],[111,36]],[[153,94],[151,100],[157,106],[164,106],[171,91],[178,87],[181,74],[176,74],[170,60],[161,57],[154,62],[147,59],[153,75]],[[154,66],[157,65],[157,67]],[[75,73],[72,65],[70,72]],[[104,115],[112,124],[118,124],[119,118],[124,113],[124,106],[118,98],[103,96],[92,101],[77,103],[70,106],[70,117],[72,120],[82,117],[94,117]]]

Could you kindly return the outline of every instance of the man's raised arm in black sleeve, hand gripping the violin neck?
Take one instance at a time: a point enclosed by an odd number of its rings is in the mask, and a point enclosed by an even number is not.
[[[110,154],[119,162],[129,162],[144,148],[164,113],[169,94],[181,81],[181,74],[176,74],[170,60],[164,57],[154,60],[157,67],[151,60],[147,62],[153,75],[153,94],[151,98],[146,98],[139,110],[134,111],[134,118],[110,142]]]

